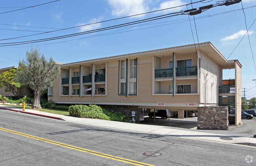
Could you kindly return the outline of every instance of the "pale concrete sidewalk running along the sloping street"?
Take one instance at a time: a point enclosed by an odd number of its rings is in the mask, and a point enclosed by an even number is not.
[[[159,125],[145,125],[145,124],[133,124],[133,123],[125,123],[125,122],[116,122],[109,120],[100,120],[100,119],[89,119],[89,118],[76,118],[72,116],[58,115],[52,113],[45,113],[41,111],[26,109],[22,111],[20,108],[10,107],[10,106],[0,106],[0,109],[6,109],[9,111],[15,111],[19,113],[32,114],[36,116],[43,116],[46,118],[53,118],[57,120],[65,120],[67,122],[85,124],[85,125],[93,125],[98,127],[107,127],[112,129],[119,129],[124,131],[133,131],[140,133],[149,133],[152,135],[168,135],[168,136],[177,136],[182,138],[189,138],[194,140],[204,140],[211,142],[219,142],[219,143],[227,143],[227,144],[241,144],[256,147],[256,138],[254,137],[243,137],[243,136],[230,136],[230,135],[222,135],[215,133],[205,133],[195,131],[193,129],[183,130],[178,127],[166,127]]]

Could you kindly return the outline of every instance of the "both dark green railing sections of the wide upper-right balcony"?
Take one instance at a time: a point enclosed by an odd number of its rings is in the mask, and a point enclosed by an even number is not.
[[[176,79],[197,78],[197,66],[178,67],[176,68]],[[155,70],[155,80],[173,79],[173,68]]]

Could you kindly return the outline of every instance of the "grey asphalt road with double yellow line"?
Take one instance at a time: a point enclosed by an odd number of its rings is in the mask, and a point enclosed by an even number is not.
[[[256,165],[255,147],[126,132],[6,110],[0,110],[0,156],[3,166]]]

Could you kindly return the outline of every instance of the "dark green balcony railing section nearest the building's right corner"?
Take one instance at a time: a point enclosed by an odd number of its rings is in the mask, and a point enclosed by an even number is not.
[[[176,78],[196,78],[197,66],[177,67]]]

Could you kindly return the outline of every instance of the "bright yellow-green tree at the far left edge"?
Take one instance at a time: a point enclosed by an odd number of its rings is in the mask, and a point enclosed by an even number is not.
[[[19,90],[24,86],[15,80],[17,70],[19,70],[19,68],[11,68],[0,74],[0,88],[7,87],[4,89],[5,92],[11,92],[18,98],[21,98],[22,94],[19,94]]]

